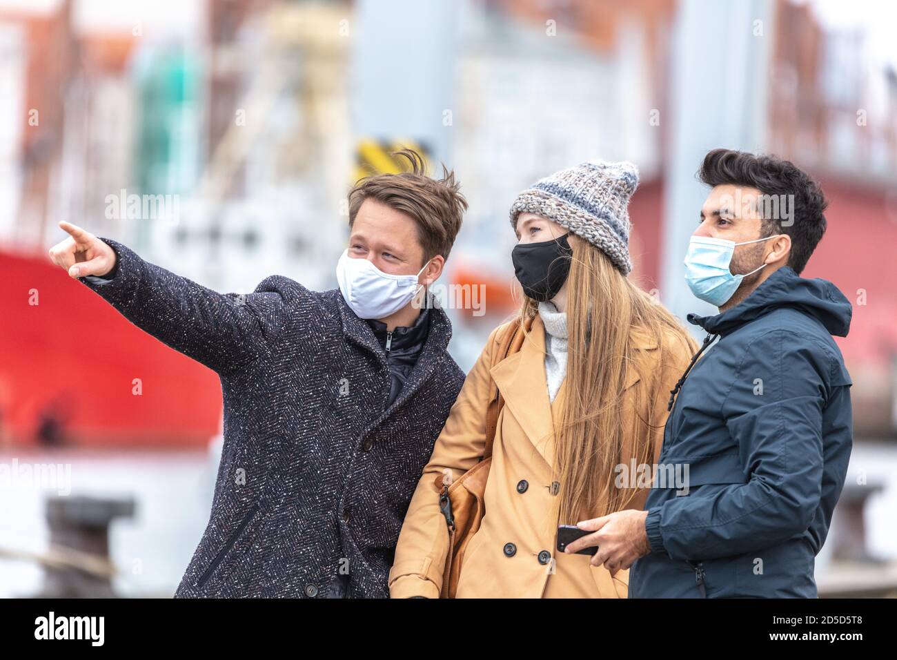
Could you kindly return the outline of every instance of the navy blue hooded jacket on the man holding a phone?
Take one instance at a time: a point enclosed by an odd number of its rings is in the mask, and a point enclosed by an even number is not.
[[[727,312],[689,315],[710,349],[675,398],[659,460],[665,475],[687,466],[687,493],[675,479],[650,490],[651,552],[631,568],[631,598],[816,596],[853,439],[832,340],[851,312],[831,282],[786,267]]]

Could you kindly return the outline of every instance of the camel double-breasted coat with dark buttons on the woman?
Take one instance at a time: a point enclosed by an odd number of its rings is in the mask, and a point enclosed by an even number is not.
[[[490,382],[498,385],[505,404],[498,418],[492,448],[492,467],[485,491],[485,515],[480,529],[468,543],[458,598],[595,597],[625,598],[629,570],[615,576],[604,567],[593,568],[587,555],[568,555],[555,550],[557,524],[548,520],[556,497],[553,488],[553,418],[563,405],[566,381],[553,402],[549,401],[544,368],[544,326],[536,316],[518,353],[492,365],[502,325],[492,331],[482,355],[467,375],[460,395],[448,415],[399,534],[396,558],[389,573],[392,598],[413,595],[438,598],[448,551],[448,530],[440,512],[435,478],[450,471],[457,479],[483,455],[485,418]],[[624,410],[627,423],[636,423],[635,392],[649,387],[640,374],[660,374],[655,391],[644,392],[640,418],[651,417],[658,428],[650,432],[657,462],[666,422],[666,402],[675,381],[688,365],[682,342],[668,342],[665,365],[658,365],[656,342],[631,336],[636,348],[626,374]],[[649,410],[653,408],[653,410]],[[643,425],[640,425],[644,428]],[[649,432],[645,429],[644,432]],[[630,450],[623,449],[621,463],[630,464]],[[615,475],[604,475],[614,479]],[[631,508],[641,508],[648,490],[641,488]]]

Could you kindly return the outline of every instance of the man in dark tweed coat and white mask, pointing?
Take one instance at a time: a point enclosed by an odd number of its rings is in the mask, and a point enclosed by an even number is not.
[[[212,514],[176,596],[388,597],[405,511],[464,383],[448,316],[424,295],[466,201],[453,174],[398,154],[410,172],[349,195],[331,291],[272,276],[218,294],[60,224],[59,266],[221,377]]]

